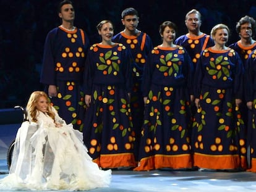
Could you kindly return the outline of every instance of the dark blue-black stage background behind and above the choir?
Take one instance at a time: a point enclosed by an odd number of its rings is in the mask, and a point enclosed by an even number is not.
[[[236,22],[244,15],[256,19],[255,0],[74,0],[75,26],[83,28],[90,43],[100,41],[96,25],[100,20],[111,20],[114,33],[123,30],[121,12],[126,7],[139,11],[139,29],[150,35],[153,44],[161,43],[160,23],[171,20],[178,34],[187,33],[184,17],[191,9],[202,14],[202,31],[210,33],[217,23],[231,30],[229,44],[239,40]],[[43,46],[49,30],[60,25],[55,0],[0,0],[0,108],[25,106],[32,91],[43,90],[40,68]]]

